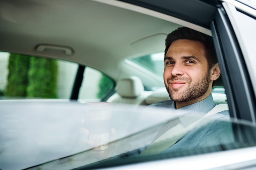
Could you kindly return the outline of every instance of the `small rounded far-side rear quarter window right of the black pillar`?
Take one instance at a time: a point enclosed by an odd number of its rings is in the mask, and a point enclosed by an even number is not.
[[[100,71],[85,67],[83,82],[79,91],[79,99],[101,101],[102,97],[113,88],[113,81]]]

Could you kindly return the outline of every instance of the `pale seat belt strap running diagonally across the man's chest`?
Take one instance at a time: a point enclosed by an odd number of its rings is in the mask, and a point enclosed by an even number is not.
[[[143,150],[143,152],[140,153],[139,156],[156,155],[156,154],[163,152],[164,150],[166,150],[167,148],[169,148],[173,144],[175,144],[177,142],[177,140],[179,140],[183,135],[185,135],[195,125],[197,125],[199,122],[201,122],[208,116],[213,115],[215,113],[219,113],[221,111],[228,111],[228,110],[229,109],[228,109],[227,104],[216,105],[206,115],[204,115],[197,121],[193,122],[186,128],[184,128],[181,123],[179,125],[176,125],[175,127],[172,127],[172,129],[168,130],[166,133],[163,133],[162,136],[160,136],[157,140],[155,140],[152,144],[150,144],[145,150]]]

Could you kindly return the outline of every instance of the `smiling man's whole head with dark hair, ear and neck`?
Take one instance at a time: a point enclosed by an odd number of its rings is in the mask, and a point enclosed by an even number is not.
[[[181,27],[166,38],[164,82],[176,108],[207,98],[220,76],[212,38]]]

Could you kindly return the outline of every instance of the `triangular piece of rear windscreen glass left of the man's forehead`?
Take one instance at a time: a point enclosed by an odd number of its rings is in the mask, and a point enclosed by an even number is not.
[[[132,58],[131,61],[148,69],[154,74],[163,77],[164,53],[150,54],[142,57]]]

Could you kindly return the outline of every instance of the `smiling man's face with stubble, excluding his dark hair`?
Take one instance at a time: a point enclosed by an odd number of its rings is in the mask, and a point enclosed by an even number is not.
[[[204,45],[198,41],[176,40],[164,62],[164,83],[175,102],[188,102],[204,95],[210,82]]]

